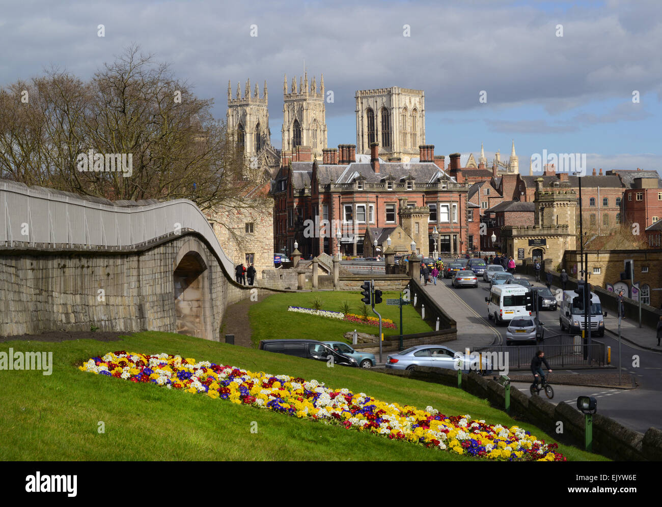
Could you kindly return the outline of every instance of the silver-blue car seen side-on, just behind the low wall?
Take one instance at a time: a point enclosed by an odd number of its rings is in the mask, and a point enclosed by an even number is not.
[[[417,366],[446,368],[447,370],[478,370],[478,356],[462,354],[443,345],[414,345],[402,352],[392,352],[387,356],[389,370],[416,370]],[[483,357],[481,371],[491,373],[489,360]]]

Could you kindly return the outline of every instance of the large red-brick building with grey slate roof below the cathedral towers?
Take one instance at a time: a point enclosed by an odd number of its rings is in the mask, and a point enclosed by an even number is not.
[[[283,151],[282,167],[271,188],[275,251],[289,253],[297,241],[305,257],[338,251],[343,256],[363,256],[367,227],[396,225],[426,256],[435,246],[451,256],[469,250],[468,227],[474,216],[467,203],[471,185],[444,171],[445,157],[434,155],[434,145],[420,145],[419,161],[404,164],[397,158],[381,159],[377,143],[371,146],[369,162],[357,161],[361,157],[355,145],[322,152],[320,163],[312,160],[305,146],[294,153]],[[451,165],[457,170],[459,154],[453,155]]]

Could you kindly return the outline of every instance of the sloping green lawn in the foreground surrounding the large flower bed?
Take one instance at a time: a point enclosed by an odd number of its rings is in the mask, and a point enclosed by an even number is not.
[[[381,401],[508,426],[518,424],[538,438],[553,438],[520,424],[487,401],[461,390],[401,379],[359,368],[283,356],[179,334],[141,332],[117,342],[71,340],[5,342],[20,351],[52,351],[52,375],[0,371],[0,459],[7,460],[457,460],[473,458],[408,442],[301,420],[265,409],[234,405],[152,384],[95,375],[77,369],[85,360],[115,350],[179,354],[252,371],[317,379]],[[97,432],[99,421],[105,433]],[[258,432],[252,433],[256,422]],[[568,459],[604,459],[559,446]],[[561,465],[563,466],[563,465]]]

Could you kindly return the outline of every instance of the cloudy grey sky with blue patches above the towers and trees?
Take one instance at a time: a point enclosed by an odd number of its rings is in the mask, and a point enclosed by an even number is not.
[[[355,91],[425,92],[435,153],[586,153],[604,169],[662,169],[662,2],[0,1],[0,87],[52,65],[88,79],[130,44],[171,63],[225,118],[267,81],[281,147],[283,74],[324,73],[328,144],[354,143]],[[97,36],[103,24],[105,36]],[[251,36],[251,25],[257,36]],[[408,36],[405,26],[408,25]],[[559,27],[560,25],[560,27]],[[562,36],[559,36],[562,30]],[[487,102],[479,102],[481,91]],[[638,95],[638,102],[633,101]],[[590,171],[590,169],[589,169]]]

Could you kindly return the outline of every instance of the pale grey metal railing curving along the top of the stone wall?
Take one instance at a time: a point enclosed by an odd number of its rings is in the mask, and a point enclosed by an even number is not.
[[[228,274],[234,266],[197,205],[187,199],[128,206],[0,180],[0,248],[118,249],[195,231]]]

